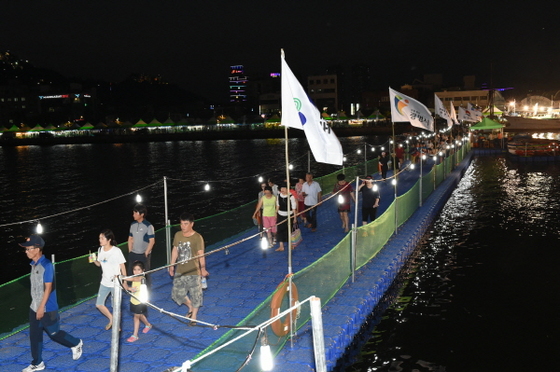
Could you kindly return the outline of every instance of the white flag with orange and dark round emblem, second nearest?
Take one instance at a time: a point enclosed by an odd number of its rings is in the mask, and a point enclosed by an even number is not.
[[[389,101],[393,123],[409,121],[415,127],[434,131],[434,118],[426,106],[391,88],[389,88]]]

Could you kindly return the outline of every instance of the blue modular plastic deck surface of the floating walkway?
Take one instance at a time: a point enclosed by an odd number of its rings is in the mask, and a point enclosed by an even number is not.
[[[463,163],[467,164],[468,161]],[[428,173],[430,168],[431,166],[424,166],[424,173]],[[398,194],[408,190],[418,180],[418,176],[418,168],[401,173]],[[378,257],[359,270],[356,282],[347,283],[323,308],[329,369],[332,369],[337,359],[343,355],[345,347],[382,297],[400,265],[422,236],[423,228],[426,228],[439,212],[438,208],[447,200],[459,178],[458,171],[452,172],[424,206],[399,229],[399,233],[389,241]],[[388,182],[379,184],[380,215],[392,203],[394,191]],[[330,191],[324,190],[324,193]],[[307,267],[331,250],[346,235],[340,226],[333,198],[319,208],[316,232],[302,228],[303,242],[292,254],[293,272]],[[200,232],[204,235],[204,231]],[[256,228],[236,238],[255,233]],[[208,250],[215,248],[218,247],[209,247]],[[251,239],[230,248],[229,254],[222,251],[210,255],[207,258],[207,268],[210,278],[208,289],[204,292],[204,305],[199,311],[199,319],[213,324],[235,325],[264,301],[284,279],[287,274],[287,251],[263,252],[258,239]],[[187,308],[177,306],[170,298],[172,279],[167,272],[152,274],[152,280],[151,302],[166,311],[185,315]],[[151,309],[148,319],[153,324],[153,329],[147,334],[140,332],[138,341],[128,343],[126,339],[132,334],[133,322],[126,296],[123,296],[122,309],[120,371],[165,371],[170,367],[180,366],[227,332],[227,328],[214,330],[207,327],[191,327]],[[83,356],[80,360],[73,361],[69,349],[51,341],[45,334],[43,358],[47,370],[108,371],[111,333],[104,330],[107,319],[95,309],[95,299],[63,311],[61,319],[62,329],[83,339]],[[28,336],[28,329],[24,329],[0,341],[1,371],[21,371],[29,364],[31,356]],[[310,325],[300,329],[294,340],[293,348],[288,342],[275,358],[275,371],[314,370]],[[234,371],[238,367],[237,363],[232,363],[229,370]],[[194,370],[196,371],[196,368]]]

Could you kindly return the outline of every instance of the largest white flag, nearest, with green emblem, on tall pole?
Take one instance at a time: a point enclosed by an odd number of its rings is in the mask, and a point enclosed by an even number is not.
[[[303,129],[307,142],[319,163],[342,165],[342,146],[333,130],[321,118],[307,93],[284,59],[282,51],[282,125]]]

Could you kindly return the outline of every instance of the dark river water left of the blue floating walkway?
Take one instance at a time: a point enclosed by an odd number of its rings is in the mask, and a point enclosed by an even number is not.
[[[357,149],[364,143],[384,141],[340,138],[347,166],[363,161]],[[292,175],[303,175],[307,141],[290,139],[288,147]],[[374,156],[368,155],[368,160]],[[312,156],[310,166],[317,176],[340,169],[315,163]],[[183,211],[201,218],[256,200],[259,175],[280,183],[285,174],[283,139],[0,147],[0,253],[7,262],[0,283],[29,272],[18,243],[37,220],[45,231],[45,253],[61,261],[96,250],[104,228],[113,230],[119,243],[125,241],[135,190],[148,207],[147,220],[163,227],[164,176],[169,218],[178,223]],[[206,183],[210,191],[204,191]]]

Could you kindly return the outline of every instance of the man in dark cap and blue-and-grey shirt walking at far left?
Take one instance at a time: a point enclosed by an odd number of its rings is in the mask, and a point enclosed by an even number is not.
[[[59,344],[72,349],[72,359],[82,356],[83,342],[60,329],[60,316],[56,300],[54,266],[43,255],[45,241],[39,235],[31,235],[20,244],[31,260],[31,306],[29,307],[29,341],[31,343],[31,364],[22,372],[41,371],[43,362],[43,331]]]

